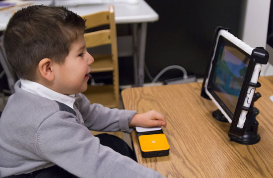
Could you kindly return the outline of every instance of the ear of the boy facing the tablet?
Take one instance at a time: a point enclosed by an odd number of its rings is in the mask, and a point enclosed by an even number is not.
[[[54,80],[54,74],[51,69],[52,67],[52,60],[49,58],[44,58],[39,62],[39,72],[41,76],[48,81],[53,81]]]

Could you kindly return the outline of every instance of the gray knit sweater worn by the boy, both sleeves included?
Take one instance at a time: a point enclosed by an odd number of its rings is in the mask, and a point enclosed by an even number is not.
[[[81,93],[74,109],[15,84],[0,117],[0,177],[54,164],[80,178],[161,178],[99,143],[90,130],[131,132],[136,111],[91,104]]]

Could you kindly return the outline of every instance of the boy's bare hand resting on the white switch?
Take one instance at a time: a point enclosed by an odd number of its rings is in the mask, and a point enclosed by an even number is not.
[[[143,114],[136,114],[129,126],[140,126],[140,127],[154,127],[154,126],[164,126],[166,127],[165,117],[155,110],[150,110]]]

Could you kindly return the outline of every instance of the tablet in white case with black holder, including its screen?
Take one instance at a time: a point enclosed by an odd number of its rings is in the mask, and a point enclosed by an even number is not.
[[[203,89],[232,123],[229,134],[244,134],[255,89],[260,87],[262,64],[267,61],[268,53],[263,48],[254,49],[228,30],[218,28]]]

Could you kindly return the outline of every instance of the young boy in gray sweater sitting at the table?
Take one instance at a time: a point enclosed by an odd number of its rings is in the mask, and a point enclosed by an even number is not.
[[[7,59],[20,78],[0,117],[0,177],[161,178],[100,144],[90,130],[132,132],[166,126],[152,110],[91,104],[87,89],[94,62],[83,37],[85,20],[64,7],[17,11],[4,33]]]

